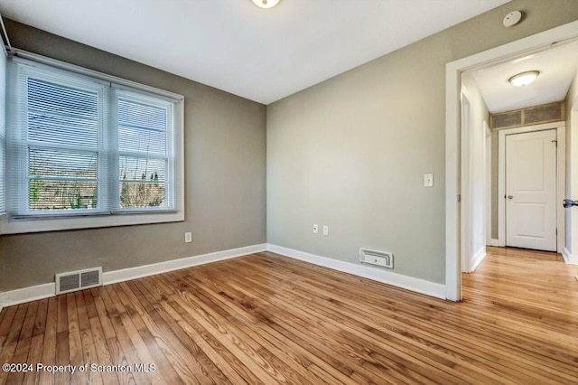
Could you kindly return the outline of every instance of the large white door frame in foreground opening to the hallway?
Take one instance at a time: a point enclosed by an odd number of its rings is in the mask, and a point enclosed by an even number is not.
[[[461,72],[544,51],[556,42],[578,38],[578,21],[476,53],[445,66],[445,297],[461,301]]]

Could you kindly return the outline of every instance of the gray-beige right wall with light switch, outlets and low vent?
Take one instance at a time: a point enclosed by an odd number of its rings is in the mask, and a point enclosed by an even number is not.
[[[445,64],[576,19],[575,0],[515,0],[269,105],[267,241],[352,263],[390,250],[396,273],[443,284]]]

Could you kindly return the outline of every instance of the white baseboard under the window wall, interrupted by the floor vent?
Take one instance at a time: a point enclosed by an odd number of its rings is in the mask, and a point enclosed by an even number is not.
[[[172,259],[166,262],[154,263],[151,265],[138,266],[136,268],[123,268],[121,270],[107,271],[102,274],[103,285],[110,285],[117,282],[128,281],[140,277],[153,276],[155,274],[166,273],[168,271],[179,270],[181,268],[191,268],[193,266],[204,265],[219,260],[237,258],[247,254],[258,253],[266,250],[266,244],[247,246],[238,249],[228,249],[209,254],[202,254],[181,259]],[[0,310],[5,306],[20,305],[38,299],[55,296],[56,285],[52,282],[38,286],[24,287],[0,293]]]

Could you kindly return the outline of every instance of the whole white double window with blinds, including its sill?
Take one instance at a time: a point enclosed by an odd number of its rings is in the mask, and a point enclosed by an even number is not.
[[[9,61],[3,231],[183,220],[182,98],[98,75]]]

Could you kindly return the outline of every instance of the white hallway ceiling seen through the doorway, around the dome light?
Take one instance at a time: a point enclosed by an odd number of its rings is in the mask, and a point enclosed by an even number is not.
[[[564,100],[578,68],[578,42],[561,43],[493,67],[472,70],[480,94],[491,113],[539,106]],[[508,79],[527,70],[540,75],[526,87],[514,87]]]

